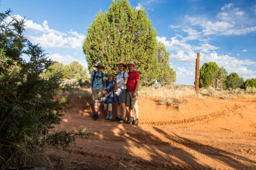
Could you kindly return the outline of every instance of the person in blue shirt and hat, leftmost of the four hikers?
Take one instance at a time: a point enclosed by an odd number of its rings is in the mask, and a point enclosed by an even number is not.
[[[94,103],[94,111],[93,119],[96,120],[98,118],[98,110],[100,109],[101,99],[103,97],[103,87],[105,83],[106,76],[101,71],[105,69],[102,63],[98,63],[96,66],[97,71],[94,71],[91,79],[91,87],[92,87],[92,97]]]

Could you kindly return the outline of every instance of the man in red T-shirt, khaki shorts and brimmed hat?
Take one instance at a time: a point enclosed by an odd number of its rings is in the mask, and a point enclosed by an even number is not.
[[[127,81],[127,91],[126,91],[126,107],[129,107],[130,120],[126,124],[133,124],[135,126],[139,125],[139,108],[138,108],[138,87],[139,87],[139,73],[135,71],[136,65],[133,61],[127,63],[129,72],[128,72],[128,81]],[[133,109],[135,112],[136,120],[133,118]]]

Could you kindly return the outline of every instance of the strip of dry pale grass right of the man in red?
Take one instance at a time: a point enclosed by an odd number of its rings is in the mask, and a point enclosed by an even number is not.
[[[183,86],[180,84],[160,86],[160,84],[154,84],[151,87],[141,87],[139,89],[139,95],[148,97],[156,101],[159,105],[167,105],[168,107],[174,107],[179,110],[181,104],[186,104],[188,99],[205,99],[208,96],[222,96],[222,99],[235,99],[236,97],[255,98],[256,90],[255,88],[247,88],[246,91],[240,88],[236,90],[222,90],[220,88],[209,87],[207,89],[200,88],[199,95],[197,96],[195,86]]]

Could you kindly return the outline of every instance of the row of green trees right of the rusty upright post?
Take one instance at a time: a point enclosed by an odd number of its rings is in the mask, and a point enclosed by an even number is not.
[[[256,87],[256,79],[247,79],[245,82],[243,78],[237,73],[228,72],[224,67],[219,67],[216,62],[204,63],[200,69],[199,87],[208,88],[243,88]]]

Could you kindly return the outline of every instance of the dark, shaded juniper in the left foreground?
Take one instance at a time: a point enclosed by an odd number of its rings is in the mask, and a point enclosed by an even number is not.
[[[0,13],[0,169],[30,162],[22,159],[22,147],[44,147],[46,143],[67,147],[75,142],[75,135],[84,137],[86,132],[49,134],[70,108],[70,98],[56,99],[57,92],[65,90],[60,87],[61,75],[41,76],[54,61],[24,37],[24,19],[18,20],[10,12]],[[22,56],[30,59],[25,61]],[[18,163],[12,161],[13,154],[20,158]]]

